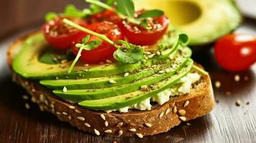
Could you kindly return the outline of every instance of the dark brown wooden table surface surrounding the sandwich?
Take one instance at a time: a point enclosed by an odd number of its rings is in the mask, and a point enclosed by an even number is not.
[[[216,65],[212,49],[209,48],[196,51],[194,59],[210,72],[213,84],[219,81],[222,86],[214,88],[218,103],[211,114],[190,121],[191,126],[181,124],[167,133],[143,139],[95,137],[65,122],[59,122],[52,114],[40,112],[35,104],[22,99],[22,95],[27,92],[11,82],[10,71],[6,66],[6,46],[16,36],[26,33],[26,29],[22,29],[22,33],[16,29],[41,23],[43,12],[53,9],[52,4],[59,4],[57,11],[60,11],[67,1],[33,1],[19,0],[18,4],[0,1],[0,16],[11,22],[0,23],[1,27],[5,27],[0,30],[0,142],[256,142],[256,65],[242,73],[222,71]],[[7,10],[12,12],[14,19],[3,14],[6,8],[2,4],[9,6]],[[13,5],[15,9],[22,9],[19,12],[24,14],[15,15],[18,11],[11,11],[14,10],[11,8]],[[255,21],[247,19],[237,32],[256,34],[255,25]],[[12,36],[4,36],[14,30]],[[240,82],[234,81],[236,74],[240,75]],[[235,104],[237,99],[242,101],[240,107]],[[31,109],[26,109],[25,103],[29,103]]]

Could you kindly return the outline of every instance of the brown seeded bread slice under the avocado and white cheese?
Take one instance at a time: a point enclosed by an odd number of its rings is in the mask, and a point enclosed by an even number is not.
[[[10,67],[27,36],[14,41],[9,47],[7,57]],[[32,102],[37,103],[42,111],[52,112],[60,121],[69,122],[82,131],[96,135],[142,138],[168,132],[181,122],[209,114],[214,107],[211,80],[209,76],[203,75],[200,81],[193,85],[189,94],[173,97],[161,106],[156,104],[150,111],[130,109],[127,113],[105,113],[85,109],[77,104],[65,102],[37,81],[24,79],[14,72],[12,78],[14,82],[27,89],[32,95]]]

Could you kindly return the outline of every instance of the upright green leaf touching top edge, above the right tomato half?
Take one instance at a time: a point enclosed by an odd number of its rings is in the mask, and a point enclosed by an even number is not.
[[[116,0],[115,9],[124,16],[134,17],[135,7],[132,0]]]

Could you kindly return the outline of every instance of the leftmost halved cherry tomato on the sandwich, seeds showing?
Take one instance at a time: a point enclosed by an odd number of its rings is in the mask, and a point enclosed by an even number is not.
[[[81,26],[87,26],[87,22],[71,17],[57,17],[52,21],[44,24],[42,31],[44,33],[45,39],[47,39],[48,43],[51,44],[55,49],[67,50],[72,45],[72,41],[80,36],[83,32],[72,28],[71,26],[67,26],[63,24],[62,20],[64,18],[70,19]]]

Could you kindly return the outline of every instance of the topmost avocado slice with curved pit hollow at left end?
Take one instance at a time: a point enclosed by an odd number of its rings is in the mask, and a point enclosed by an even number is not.
[[[127,71],[141,69],[141,62],[136,64],[97,64],[84,66],[78,63],[74,72],[67,73],[72,61],[65,63],[49,64],[39,61],[40,54],[47,49],[47,42],[42,33],[30,36],[22,45],[21,51],[14,59],[12,68],[17,74],[27,79],[85,79],[91,77],[108,77],[122,74]]]

